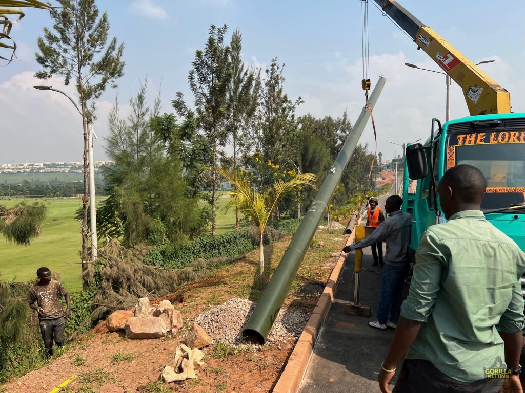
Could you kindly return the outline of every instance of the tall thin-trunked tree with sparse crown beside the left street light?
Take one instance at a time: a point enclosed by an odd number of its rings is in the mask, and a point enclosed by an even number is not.
[[[95,116],[95,101],[108,85],[123,75],[121,60],[124,45],[117,38],[108,43],[109,20],[102,15],[95,0],[58,0],[60,7],[50,11],[53,29],[44,27],[44,36],[38,38],[37,62],[44,68],[35,76],[48,79],[64,77],[64,84],[72,81],[78,92],[82,113],[84,193],[82,198],[82,271],[88,260],[88,129]],[[89,106],[89,107],[88,107]],[[85,279],[83,286],[87,285]]]

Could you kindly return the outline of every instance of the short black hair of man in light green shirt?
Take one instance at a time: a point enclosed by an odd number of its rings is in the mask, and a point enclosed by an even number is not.
[[[487,180],[483,172],[467,164],[450,168],[441,181],[460,194],[461,201],[466,203],[481,202],[487,189]]]

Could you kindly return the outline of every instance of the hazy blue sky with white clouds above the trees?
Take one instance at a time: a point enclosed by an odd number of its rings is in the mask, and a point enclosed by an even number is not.
[[[54,3],[51,0],[51,3]],[[472,62],[495,60],[479,67],[511,94],[515,112],[525,112],[525,2],[523,0],[399,0]],[[433,117],[445,121],[444,75],[406,67],[404,63],[440,71],[438,65],[381,11],[368,3],[369,64],[372,88],[380,75],[386,84],[374,109],[377,152],[384,159],[401,154],[394,144],[426,139]],[[196,49],[205,45],[211,24],[229,26],[226,41],[238,28],[248,66],[266,67],[272,58],[286,63],[284,87],[292,101],[304,104],[297,115],[337,117],[348,111],[352,123],[365,103],[361,0],[98,0],[107,10],[110,37],[124,42],[124,76],[118,89],[108,88],[97,101],[95,160],[106,160],[107,117],[116,102],[129,113],[128,100],[148,81],[148,99],[160,91],[162,112],[174,112],[178,91],[188,103],[193,96],[187,76]],[[71,102],[51,85],[77,99],[75,89],[60,78],[34,78],[36,41],[51,27],[49,13],[26,9],[12,37],[17,59],[0,64],[0,163],[81,161],[82,126]],[[450,117],[468,116],[460,88],[452,82]],[[360,143],[375,150],[368,124]],[[390,143],[393,142],[394,144]]]

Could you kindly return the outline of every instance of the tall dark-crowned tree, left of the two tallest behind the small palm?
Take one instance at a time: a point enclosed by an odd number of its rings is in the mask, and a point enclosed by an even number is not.
[[[195,119],[197,129],[206,136],[211,147],[207,163],[208,167],[212,168],[217,166],[222,155],[221,148],[226,145],[227,96],[232,78],[230,48],[224,45],[227,30],[227,25],[211,25],[204,50],[195,51],[193,68],[188,74],[190,90],[194,95],[195,112],[188,108],[181,92],[177,92],[175,100],[172,101],[178,115],[183,116],[186,121]],[[218,175],[215,171],[209,174],[208,184],[212,190],[209,202],[212,205],[212,235],[215,235],[218,185]]]

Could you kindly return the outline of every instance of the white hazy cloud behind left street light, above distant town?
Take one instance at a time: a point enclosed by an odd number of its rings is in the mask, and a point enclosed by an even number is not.
[[[40,161],[81,161],[83,150],[82,121],[69,99],[54,91],[36,90],[35,85],[53,86],[75,101],[73,85],[64,80],[36,79],[33,71],[14,75],[0,83],[2,108],[2,163]],[[93,127],[99,136],[95,142],[95,160],[103,160],[103,138],[107,136],[107,118],[112,103],[97,102],[97,120]]]

